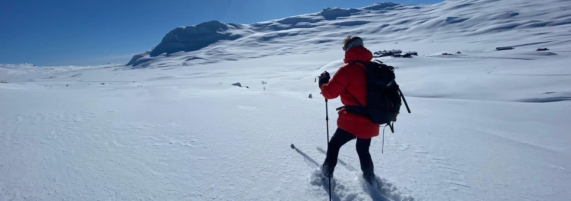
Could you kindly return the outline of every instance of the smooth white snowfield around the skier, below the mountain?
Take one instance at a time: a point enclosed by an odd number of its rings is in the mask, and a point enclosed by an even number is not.
[[[505,54],[536,53],[519,49]],[[570,53],[380,58],[399,67],[413,112],[399,115],[395,134],[385,132],[384,154],[382,138],[372,139],[383,195],[568,199]],[[325,106],[313,78],[335,73],[342,55],[178,69],[3,69],[0,200],[326,200],[316,168],[289,144],[323,161]],[[47,79],[19,82],[27,73]],[[522,98],[555,102],[513,102]],[[339,106],[329,100],[330,132]],[[363,186],[354,147],[341,148],[333,199],[383,200]]]

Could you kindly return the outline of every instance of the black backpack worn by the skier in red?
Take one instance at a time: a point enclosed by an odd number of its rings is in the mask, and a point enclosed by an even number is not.
[[[337,110],[345,108],[353,114],[368,116],[377,124],[387,124],[391,127],[391,131],[395,132],[391,122],[396,121],[402,104],[401,99],[407,107],[408,113],[411,113],[403,92],[400,91],[399,85],[395,82],[395,67],[384,65],[379,60],[375,60],[375,62],[354,61],[353,64],[355,63],[361,63],[367,70],[367,105],[363,106],[351,94],[359,106],[343,106]]]

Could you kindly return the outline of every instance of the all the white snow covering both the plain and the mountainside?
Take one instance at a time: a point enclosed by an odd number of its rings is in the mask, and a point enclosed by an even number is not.
[[[383,154],[383,138],[372,139],[380,193],[360,178],[352,141],[333,199],[568,200],[569,5],[377,3],[324,9],[339,15],[331,21],[316,13],[226,24],[215,32],[240,38],[146,51],[135,66],[0,65],[0,200],[328,199],[317,168],[289,145],[325,158],[314,81],[343,64],[348,33],[372,51],[420,56],[377,58],[398,67],[412,110],[385,130]],[[330,134],[339,106],[328,102]]]

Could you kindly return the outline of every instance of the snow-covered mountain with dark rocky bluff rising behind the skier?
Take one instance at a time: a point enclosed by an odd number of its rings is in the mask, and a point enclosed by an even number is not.
[[[159,45],[134,55],[127,66],[192,66],[331,51],[340,48],[340,40],[349,34],[380,45],[434,41],[493,42],[500,46],[516,45],[512,43],[525,38],[568,42],[565,38],[571,35],[571,1],[375,3],[359,9],[328,7],[319,13],[251,25],[210,21],[170,31]]]

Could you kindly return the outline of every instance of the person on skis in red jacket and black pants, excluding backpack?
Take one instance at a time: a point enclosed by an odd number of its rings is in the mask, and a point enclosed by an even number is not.
[[[345,51],[344,63],[339,70],[329,77],[325,71],[319,76],[319,89],[325,99],[341,97],[341,103],[345,106],[359,104],[367,105],[367,79],[365,66],[354,61],[371,62],[373,54],[363,47],[363,39],[348,35],[343,40],[343,50]],[[331,80],[329,80],[331,79]],[[353,98],[355,97],[355,98]],[[371,138],[379,135],[379,124],[376,124],[367,116],[359,116],[341,108],[338,112],[337,130],[331,137],[328,144],[327,156],[321,165],[321,174],[324,178],[333,176],[333,170],[337,165],[339,149],[350,140],[357,139],[356,150],[361,163],[363,178],[369,183],[375,182],[375,172],[373,172],[373,160],[369,154]]]

